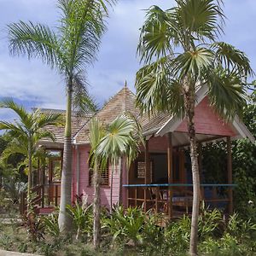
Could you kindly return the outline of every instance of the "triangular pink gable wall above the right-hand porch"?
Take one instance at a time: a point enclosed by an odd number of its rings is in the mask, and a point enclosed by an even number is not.
[[[183,120],[176,131],[188,131],[186,120]],[[225,123],[209,107],[207,96],[195,108],[195,132],[220,136],[236,136],[236,132],[232,130],[231,125]]]

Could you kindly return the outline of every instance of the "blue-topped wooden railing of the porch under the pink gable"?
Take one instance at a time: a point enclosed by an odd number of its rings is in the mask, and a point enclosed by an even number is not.
[[[221,207],[227,210],[232,197],[229,191],[236,184],[201,184],[201,200],[210,207]],[[143,206],[145,211],[165,212],[170,218],[180,213],[191,212],[193,200],[193,184],[125,184],[128,189],[127,205]]]

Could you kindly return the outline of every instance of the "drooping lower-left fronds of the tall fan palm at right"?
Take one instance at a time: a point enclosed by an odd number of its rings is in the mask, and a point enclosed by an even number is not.
[[[170,58],[161,58],[137,72],[137,106],[143,112],[183,115],[182,85],[172,77]]]

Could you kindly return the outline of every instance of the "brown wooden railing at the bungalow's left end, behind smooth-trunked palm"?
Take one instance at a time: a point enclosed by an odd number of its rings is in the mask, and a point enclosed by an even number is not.
[[[57,207],[61,197],[61,183],[53,182],[32,188],[32,205],[35,208]],[[26,212],[26,192],[20,194],[20,213]]]

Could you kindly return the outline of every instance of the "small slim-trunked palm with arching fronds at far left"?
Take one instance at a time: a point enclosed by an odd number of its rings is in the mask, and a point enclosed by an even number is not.
[[[12,141],[8,148],[3,150],[3,158],[8,158],[11,154],[24,154],[28,160],[28,182],[27,182],[27,212],[32,209],[32,158],[37,154],[37,143],[43,138],[54,140],[55,137],[50,131],[44,130],[46,125],[60,125],[61,114],[42,113],[40,109],[28,113],[25,108],[19,106],[11,99],[0,102],[0,108],[9,108],[19,117],[18,121],[10,123],[0,121],[0,131],[9,132]]]

